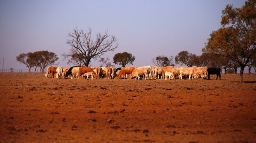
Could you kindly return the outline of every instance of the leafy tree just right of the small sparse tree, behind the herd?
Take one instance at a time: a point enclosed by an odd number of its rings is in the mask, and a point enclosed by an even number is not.
[[[191,54],[188,51],[184,50],[179,52],[179,54],[175,57],[176,64],[185,64],[188,67],[194,66],[196,55]]]

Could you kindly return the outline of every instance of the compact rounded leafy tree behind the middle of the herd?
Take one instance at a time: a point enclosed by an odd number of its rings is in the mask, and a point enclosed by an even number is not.
[[[132,64],[132,62],[135,60],[135,56],[132,56],[132,54],[128,52],[123,53],[117,53],[113,57],[113,63],[121,65],[122,67],[125,67],[126,64]]]

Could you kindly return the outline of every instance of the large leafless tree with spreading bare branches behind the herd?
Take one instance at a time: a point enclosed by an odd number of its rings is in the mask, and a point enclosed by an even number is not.
[[[92,40],[91,34],[90,28],[88,32],[75,28],[73,33],[69,33],[68,36],[71,39],[67,40],[67,44],[71,46],[71,51],[68,54],[62,54],[64,60],[76,54],[77,59],[81,60],[83,65],[88,66],[91,59],[98,59],[104,53],[118,48],[116,37],[108,35],[107,31],[103,34],[96,34],[95,41]]]

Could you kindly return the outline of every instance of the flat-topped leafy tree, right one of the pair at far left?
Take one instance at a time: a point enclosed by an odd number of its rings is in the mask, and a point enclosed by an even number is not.
[[[32,59],[35,61],[35,64],[40,67],[42,72],[44,72],[45,67],[54,65],[59,57],[57,57],[54,52],[43,50],[34,52]]]

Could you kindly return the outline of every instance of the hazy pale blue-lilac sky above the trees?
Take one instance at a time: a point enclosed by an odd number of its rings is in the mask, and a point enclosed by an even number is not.
[[[129,52],[133,66],[152,65],[160,55],[176,56],[187,50],[201,55],[213,30],[220,28],[221,10],[244,0],[0,0],[0,62],[4,69],[25,69],[16,61],[21,53],[48,50],[67,65],[67,34],[74,27],[96,33],[108,30],[119,47],[103,57]],[[99,60],[92,60],[99,66]],[[120,67],[115,65],[115,67]]]

